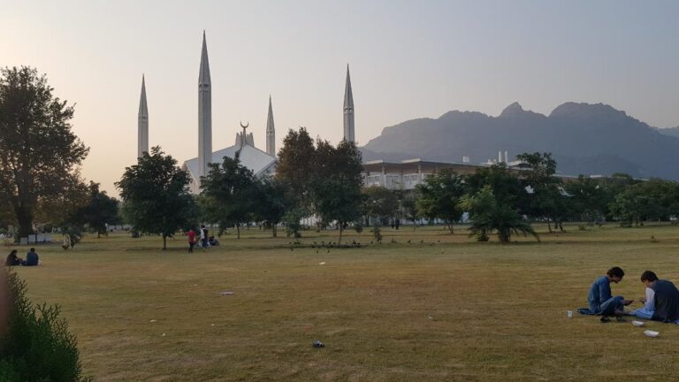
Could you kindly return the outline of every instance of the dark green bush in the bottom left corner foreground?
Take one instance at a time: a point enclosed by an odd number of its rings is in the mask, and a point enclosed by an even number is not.
[[[58,306],[34,305],[26,283],[3,271],[8,302],[7,327],[0,334],[0,380],[6,382],[80,382],[80,353]]]

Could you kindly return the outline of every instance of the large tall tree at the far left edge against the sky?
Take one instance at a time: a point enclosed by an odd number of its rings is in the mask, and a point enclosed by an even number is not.
[[[0,194],[25,237],[38,201],[62,192],[88,148],[72,133],[73,107],[52,94],[44,75],[25,66],[0,74]]]

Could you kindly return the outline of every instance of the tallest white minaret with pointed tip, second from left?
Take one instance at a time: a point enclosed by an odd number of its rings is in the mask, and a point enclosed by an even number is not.
[[[212,90],[208,44],[202,32],[201,73],[198,75],[198,177],[207,175],[212,160]]]

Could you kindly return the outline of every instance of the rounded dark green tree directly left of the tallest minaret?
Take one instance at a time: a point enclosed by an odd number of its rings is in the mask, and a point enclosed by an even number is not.
[[[120,190],[126,221],[141,233],[167,238],[195,218],[194,198],[188,193],[187,172],[177,160],[165,156],[159,146],[144,152],[137,164],[127,167],[116,187]]]

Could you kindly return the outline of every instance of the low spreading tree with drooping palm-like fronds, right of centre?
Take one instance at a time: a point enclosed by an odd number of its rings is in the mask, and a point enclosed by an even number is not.
[[[513,233],[527,233],[538,241],[538,233],[510,205],[498,202],[490,186],[484,186],[474,195],[462,198],[462,207],[469,211],[471,226],[469,236],[476,236],[478,241],[488,241],[488,236],[495,232],[501,243],[507,243]]]

